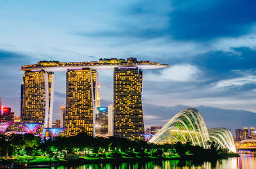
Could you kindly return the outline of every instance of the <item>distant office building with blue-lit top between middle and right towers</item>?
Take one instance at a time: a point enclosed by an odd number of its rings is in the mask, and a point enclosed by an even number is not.
[[[100,135],[108,133],[108,107],[97,108],[95,133]]]

